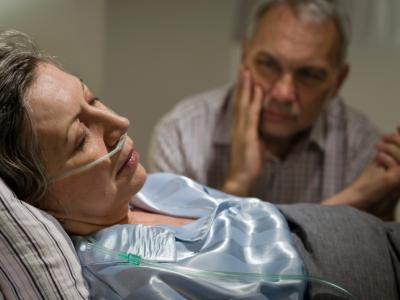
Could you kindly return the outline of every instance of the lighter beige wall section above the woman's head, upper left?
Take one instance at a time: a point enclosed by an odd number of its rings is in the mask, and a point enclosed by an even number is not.
[[[24,31],[95,90],[104,88],[106,0],[1,0],[0,27]]]

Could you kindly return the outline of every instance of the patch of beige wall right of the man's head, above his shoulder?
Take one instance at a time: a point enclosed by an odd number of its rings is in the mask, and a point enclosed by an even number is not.
[[[343,95],[382,131],[400,125],[400,47],[354,45]]]

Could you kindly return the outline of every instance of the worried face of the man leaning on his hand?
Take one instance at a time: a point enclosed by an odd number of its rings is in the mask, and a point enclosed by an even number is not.
[[[333,21],[299,19],[286,6],[272,8],[244,45],[242,65],[264,91],[260,133],[290,140],[310,128],[341,82]]]

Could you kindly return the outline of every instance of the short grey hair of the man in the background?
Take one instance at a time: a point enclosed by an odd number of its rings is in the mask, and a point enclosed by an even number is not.
[[[257,6],[247,30],[247,38],[251,40],[257,26],[264,15],[272,8],[285,5],[299,18],[308,21],[325,22],[333,20],[339,35],[337,58],[344,63],[351,41],[350,18],[340,5],[340,0],[267,0]]]

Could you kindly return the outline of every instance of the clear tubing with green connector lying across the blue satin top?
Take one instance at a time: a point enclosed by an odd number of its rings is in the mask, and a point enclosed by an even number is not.
[[[111,249],[107,249],[103,246],[97,245],[96,241],[92,238],[79,238],[80,242],[84,242],[84,247],[81,249],[82,251],[86,251],[89,249],[94,249],[103,254],[108,254],[110,256],[121,259],[122,261],[134,265],[135,267],[150,267],[157,270],[166,270],[181,273],[184,275],[204,278],[204,279],[217,279],[217,280],[232,280],[232,281],[241,281],[241,282],[254,282],[254,281],[265,281],[265,282],[278,282],[278,281],[291,281],[291,280],[303,280],[308,282],[319,283],[326,287],[330,287],[336,292],[339,292],[341,295],[346,296],[348,299],[358,300],[352,293],[350,293],[345,288],[330,282],[325,279],[321,279],[318,277],[307,276],[307,275],[296,275],[296,274],[262,274],[262,273],[245,273],[245,272],[221,272],[221,271],[205,271],[201,269],[189,268],[184,266],[179,266],[171,263],[160,263],[155,261],[149,261],[142,259],[140,256],[127,253],[123,251],[114,251]]]

